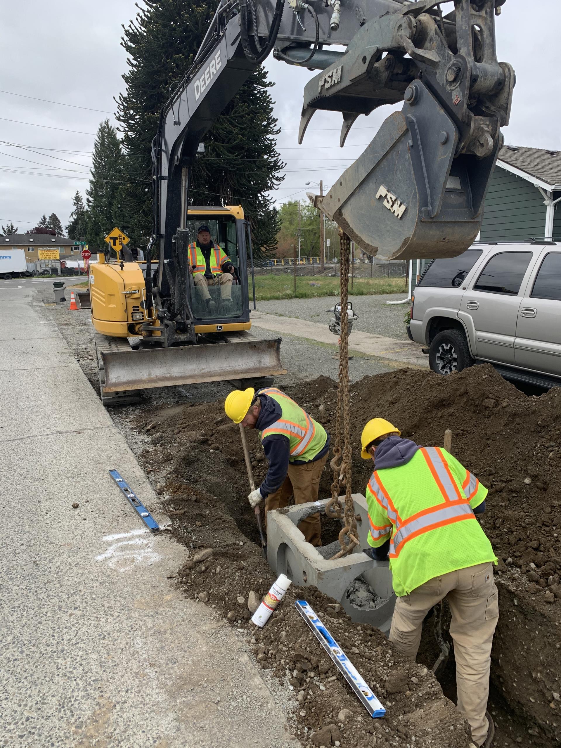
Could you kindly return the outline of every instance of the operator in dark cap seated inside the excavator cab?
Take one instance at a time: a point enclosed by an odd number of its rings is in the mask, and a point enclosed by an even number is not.
[[[220,286],[222,311],[224,314],[232,310],[232,283],[234,267],[232,260],[220,245],[216,245],[210,238],[208,226],[199,226],[197,241],[188,247],[189,272],[193,276],[194,284],[204,301],[206,311],[214,313],[216,304],[210,298],[209,286]]]

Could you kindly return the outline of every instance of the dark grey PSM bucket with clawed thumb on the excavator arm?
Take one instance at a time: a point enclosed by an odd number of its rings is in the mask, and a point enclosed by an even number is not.
[[[515,75],[497,62],[494,34],[503,3],[454,0],[447,16],[441,4],[393,3],[304,89],[300,142],[318,109],[342,112],[343,145],[360,114],[404,101],[314,202],[364,251],[390,260],[468,248],[509,121]]]

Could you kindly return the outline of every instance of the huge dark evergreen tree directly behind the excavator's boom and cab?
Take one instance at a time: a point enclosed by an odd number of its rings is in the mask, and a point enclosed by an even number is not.
[[[129,72],[123,75],[126,93],[117,102],[127,156],[124,208],[135,217],[137,242],[140,235],[151,233],[150,145],[160,109],[171,85],[183,79],[191,66],[217,2],[144,0],[144,4],[123,27]],[[250,76],[206,134],[206,153],[197,157],[191,175],[191,204],[242,203],[256,255],[276,246],[278,215],[267,193],[283,179],[283,163],[271,138],[279,132],[272,115],[271,86],[263,68]]]

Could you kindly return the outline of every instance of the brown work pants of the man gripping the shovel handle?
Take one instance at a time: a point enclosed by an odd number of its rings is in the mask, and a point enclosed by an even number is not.
[[[288,475],[283,485],[274,494],[269,494],[265,500],[265,521],[269,509],[282,509],[288,506],[290,498],[294,494],[296,504],[305,504],[308,501],[317,501],[319,495],[319,479],[327,462],[328,456],[315,462],[305,462],[304,465],[288,466]],[[312,545],[322,545],[322,527],[319,521],[319,512],[311,517],[303,519],[298,525],[298,530],[303,533],[304,538]]]

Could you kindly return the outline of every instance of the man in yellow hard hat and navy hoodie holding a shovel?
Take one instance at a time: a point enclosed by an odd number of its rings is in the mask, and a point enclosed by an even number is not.
[[[269,509],[288,506],[292,494],[297,504],[317,500],[331,440],[321,423],[275,387],[257,393],[253,387],[234,390],[224,410],[234,423],[259,430],[269,460],[265,480],[248,496],[252,507],[265,499],[266,519]],[[298,529],[307,542],[322,545],[319,513],[302,520]]]

